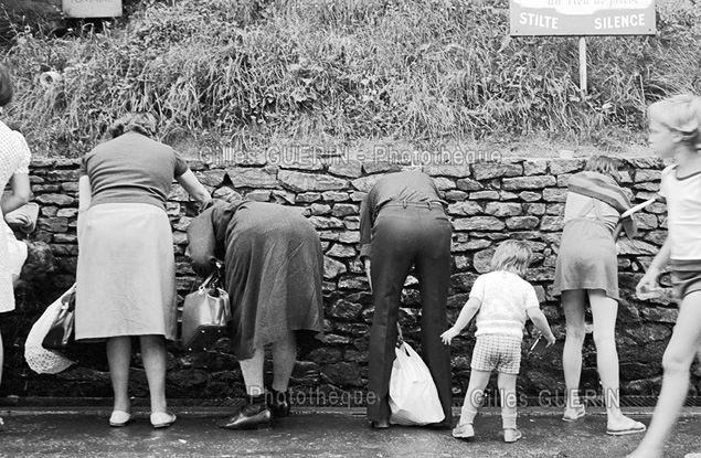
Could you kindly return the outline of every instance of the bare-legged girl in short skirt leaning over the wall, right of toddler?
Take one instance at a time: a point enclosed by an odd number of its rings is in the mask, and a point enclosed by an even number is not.
[[[606,433],[641,433],[645,425],[623,415],[618,401],[618,353],[616,317],[618,315],[618,264],[614,232],[620,214],[630,207],[618,185],[614,161],[605,156],[591,158],[583,172],[571,177],[565,203],[565,227],[555,265],[553,292],[562,294],[566,339],[562,363],[567,388],[562,417],[574,422],[585,415],[580,401],[584,312],[588,303],[594,321],[596,363],[606,401]],[[623,220],[629,236],[636,235],[633,220]]]

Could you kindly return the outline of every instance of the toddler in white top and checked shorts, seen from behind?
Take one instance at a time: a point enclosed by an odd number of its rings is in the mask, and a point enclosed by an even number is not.
[[[453,328],[440,334],[443,342],[450,344],[477,315],[477,343],[472,352],[470,380],[460,420],[453,429],[453,437],[475,437],[472,422],[495,370],[499,373],[497,384],[501,396],[503,440],[514,443],[523,436],[516,424],[516,382],[521,366],[521,341],[525,320],[533,321],[534,327],[548,340],[548,347],[555,343],[548,319],[540,309],[535,289],[523,279],[531,256],[532,251],[525,242],[502,242],[491,259],[491,271],[475,280],[457,321]]]

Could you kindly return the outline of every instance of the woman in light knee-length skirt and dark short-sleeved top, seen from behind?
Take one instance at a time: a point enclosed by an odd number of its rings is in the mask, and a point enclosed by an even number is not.
[[[166,402],[166,340],[177,334],[173,241],[166,201],[173,179],[201,204],[211,200],[188,164],[151,137],[156,119],[127,114],[111,139],[82,162],[76,340],[106,340],[115,394],[111,426],[131,419],[131,337],[138,335],[155,428],[176,415]]]

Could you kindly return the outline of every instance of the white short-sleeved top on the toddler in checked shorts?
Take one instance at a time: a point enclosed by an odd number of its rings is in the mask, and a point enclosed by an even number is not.
[[[481,301],[475,335],[499,334],[521,339],[528,319],[525,310],[540,307],[533,286],[504,270],[477,277],[470,297]]]

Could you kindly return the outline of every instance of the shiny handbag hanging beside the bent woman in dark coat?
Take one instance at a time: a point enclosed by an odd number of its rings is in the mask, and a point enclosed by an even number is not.
[[[189,351],[211,349],[220,339],[227,337],[231,318],[229,294],[220,285],[217,268],[197,291],[185,296],[182,347]]]

